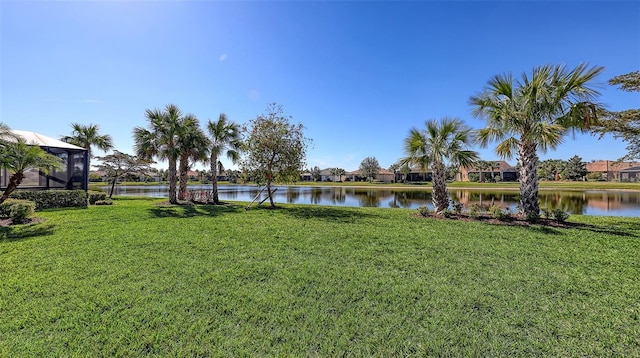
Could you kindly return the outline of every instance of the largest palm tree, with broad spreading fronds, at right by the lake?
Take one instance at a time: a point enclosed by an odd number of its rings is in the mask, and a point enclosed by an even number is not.
[[[581,64],[541,66],[521,80],[511,74],[497,75],[487,87],[471,97],[473,113],[487,120],[480,130],[480,144],[499,142],[496,153],[510,159],[517,153],[520,167],[520,206],[528,218],[540,215],[538,202],[538,150],[546,152],[562,143],[568,129],[582,130],[595,123],[600,106],[598,92],[590,86],[603,67]]]

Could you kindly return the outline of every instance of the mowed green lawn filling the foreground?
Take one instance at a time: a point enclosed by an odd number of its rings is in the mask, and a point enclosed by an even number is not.
[[[640,219],[159,202],[1,228],[0,356],[640,356]]]

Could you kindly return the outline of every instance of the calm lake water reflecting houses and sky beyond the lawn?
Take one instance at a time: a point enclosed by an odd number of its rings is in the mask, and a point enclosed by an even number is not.
[[[355,187],[278,186],[276,202],[331,206],[365,206],[415,209],[432,207],[431,191]],[[108,187],[103,188],[108,191]],[[189,190],[211,190],[210,185],[189,186]],[[254,185],[220,185],[220,200],[251,201],[258,194]],[[168,197],[166,185],[117,186],[114,195]],[[517,210],[517,191],[449,189],[451,198],[465,207],[474,203],[500,205]],[[562,209],[572,214],[640,216],[640,192],[632,191],[541,191],[540,207]],[[266,196],[262,194],[261,198]]]

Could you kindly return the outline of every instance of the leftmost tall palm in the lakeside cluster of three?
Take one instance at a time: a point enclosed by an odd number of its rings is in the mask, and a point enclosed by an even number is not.
[[[164,109],[147,109],[145,117],[149,120],[149,129],[136,127],[133,130],[134,149],[136,155],[169,162],[169,202],[177,204],[176,196],[177,161],[180,156],[178,141],[184,119],[180,109],[174,104],[168,104]]]

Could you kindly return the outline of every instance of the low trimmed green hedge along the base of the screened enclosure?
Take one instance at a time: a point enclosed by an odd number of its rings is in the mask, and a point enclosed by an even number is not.
[[[87,193],[84,190],[16,190],[9,197],[33,201],[36,210],[87,207]]]

